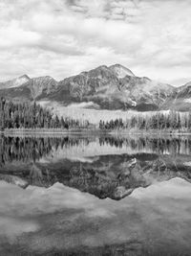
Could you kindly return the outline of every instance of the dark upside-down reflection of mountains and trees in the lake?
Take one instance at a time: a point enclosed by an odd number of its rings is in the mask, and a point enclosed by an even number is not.
[[[97,198],[121,199],[138,187],[191,180],[191,138],[0,138],[0,179],[27,188],[59,182]]]

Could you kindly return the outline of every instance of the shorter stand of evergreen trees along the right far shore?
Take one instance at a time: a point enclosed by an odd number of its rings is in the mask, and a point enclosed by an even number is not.
[[[104,122],[100,120],[99,128],[102,130],[113,129],[191,129],[191,112],[180,113],[169,111],[166,113],[155,113],[151,115],[133,115],[130,119],[123,121],[121,118]]]

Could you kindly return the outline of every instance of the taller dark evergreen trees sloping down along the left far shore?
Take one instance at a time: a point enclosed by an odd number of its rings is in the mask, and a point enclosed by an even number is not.
[[[89,122],[59,118],[49,109],[29,103],[13,104],[1,98],[0,129],[5,128],[88,128]]]

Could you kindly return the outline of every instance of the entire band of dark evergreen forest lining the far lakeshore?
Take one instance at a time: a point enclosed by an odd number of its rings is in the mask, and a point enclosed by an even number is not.
[[[0,102],[0,129],[6,128],[60,128],[82,129],[92,128],[88,120],[77,120],[70,117],[58,117],[48,108],[30,103],[12,103],[1,98]],[[95,127],[94,127],[95,128]],[[105,122],[100,120],[98,128],[101,131],[112,130],[191,130],[191,112],[154,112],[149,115],[135,114],[129,119],[117,118]]]

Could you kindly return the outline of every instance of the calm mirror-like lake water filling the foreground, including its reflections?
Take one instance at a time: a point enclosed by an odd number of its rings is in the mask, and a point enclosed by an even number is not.
[[[0,137],[0,255],[191,255],[191,137]]]

